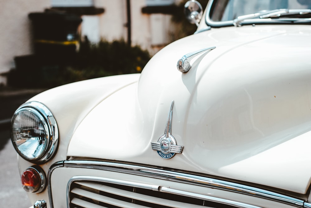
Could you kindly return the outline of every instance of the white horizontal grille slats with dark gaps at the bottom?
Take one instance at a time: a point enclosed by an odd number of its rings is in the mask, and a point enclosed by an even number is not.
[[[70,186],[70,208],[102,207],[223,207],[234,206],[197,199],[188,196],[165,193],[140,184],[128,186],[97,181],[74,181]]]

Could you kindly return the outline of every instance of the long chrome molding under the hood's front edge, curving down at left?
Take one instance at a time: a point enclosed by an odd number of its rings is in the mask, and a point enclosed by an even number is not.
[[[74,168],[89,168],[100,169],[119,173],[128,173],[133,175],[146,176],[151,178],[158,178],[163,180],[170,180],[179,183],[187,183],[193,185],[199,185],[203,187],[211,187],[221,189],[230,192],[238,192],[241,194],[247,194],[251,196],[257,196],[268,200],[278,201],[285,204],[290,204],[297,207],[304,207],[304,200],[286,196],[272,191],[267,191],[261,188],[242,185],[239,183],[233,183],[223,181],[215,178],[203,177],[188,173],[179,173],[176,171],[169,171],[163,169],[149,168],[138,165],[121,164],[114,162],[101,162],[101,161],[87,161],[87,160],[65,160],[55,163],[48,172],[48,189],[49,198],[52,205],[51,194],[51,174],[54,169],[58,167],[74,167]]]

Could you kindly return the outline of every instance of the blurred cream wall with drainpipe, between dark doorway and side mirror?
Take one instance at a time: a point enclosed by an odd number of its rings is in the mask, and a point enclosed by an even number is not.
[[[104,13],[97,16],[82,16],[82,37],[87,35],[93,42],[99,41],[100,38],[109,41],[127,40],[127,26],[130,26],[132,44],[140,45],[152,54],[171,41],[170,34],[174,33],[174,27],[170,21],[170,14],[174,12],[174,4],[179,1],[131,0],[130,25],[128,25],[126,0],[87,1],[93,2],[95,7],[103,7]]]

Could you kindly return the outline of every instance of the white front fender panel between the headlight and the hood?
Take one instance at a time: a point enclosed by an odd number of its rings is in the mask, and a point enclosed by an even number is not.
[[[72,134],[96,105],[123,87],[137,82],[139,76],[131,74],[75,82],[47,90],[28,100],[39,100],[45,104],[57,118],[58,126],[62,127],[59,129],[59,137],[63,142],[58,146],[61,154],[57,154],[52,161],[66,159]]]

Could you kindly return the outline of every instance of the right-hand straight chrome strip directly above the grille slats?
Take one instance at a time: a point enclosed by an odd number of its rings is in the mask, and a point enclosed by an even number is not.
[[[193,198],[197,198],[197,199],[203,199],[203,200],[212,201],[212,202],[216,202],[216,203],[220,203],[220,204],[237,206],[237,207],[241,207],[241,208],[262,208],[262,207],[259,207],[259,206],[254,206],[254,205],[250,205],[250,204],[241,203],[241,202],[238,202],[238,201],[222,199],[222,198],[218,198],[218,197],[214,197],[214,196],[206,196],[206,195],[192,193],[192,192],[185,192],[185,191],[181,191],[181,190],[177,190],[177,189],[172,189],[172,188],[167,188],[167,187],[161,187],[160,191],[161,192],[165,192],[165,193],[178,194],[178,195],[181,195],[181,196],[193,197]]]

